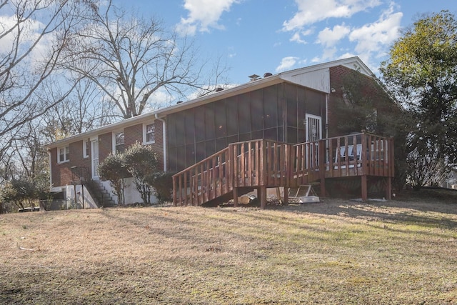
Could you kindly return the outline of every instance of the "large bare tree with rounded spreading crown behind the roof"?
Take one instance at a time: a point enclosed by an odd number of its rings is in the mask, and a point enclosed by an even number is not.
[[[65,66],[94,81],[124,119],[157,108],[154,94],[170,102],[189,89],[209,90],[199,84],[204,64],[194,43],[159,20],[136,18],[111,1],[86,18],[66,44]]]

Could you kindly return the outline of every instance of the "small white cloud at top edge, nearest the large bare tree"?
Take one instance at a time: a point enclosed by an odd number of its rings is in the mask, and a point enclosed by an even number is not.
[[[213,29],[224,29],[219,24],[224,11],[229,11],[232,4],[238,0],[185,0],[184,9],[189,11],[187,18],[181,18],[176,30],[182,34],[194,35],[196,31],[209,31]]]

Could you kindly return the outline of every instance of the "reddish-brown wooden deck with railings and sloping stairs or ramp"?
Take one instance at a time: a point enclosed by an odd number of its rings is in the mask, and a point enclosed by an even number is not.
[[[173,176],[173,201],[198,206],[233,199],[236,205],[238,196],[257,189],[263,208],[267,188],[319,181],[325,194],[326,179],[349,176],[361,177],[363,200],[367,200],[367,176],[384,177],[390,199],[393,139],[361,133],[302,144],[266,139],[229,144]]]

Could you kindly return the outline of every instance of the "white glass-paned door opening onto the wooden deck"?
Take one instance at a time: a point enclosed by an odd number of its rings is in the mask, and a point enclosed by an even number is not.
[[[322,139],[322,118],[313,114],[305,114],[305,121],[305,141],[312,142],[306,146],[306,168],[318,168],[318,141]]]

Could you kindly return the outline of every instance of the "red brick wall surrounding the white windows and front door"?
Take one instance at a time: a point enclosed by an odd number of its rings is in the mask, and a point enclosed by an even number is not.
[[[146,124],[150,124],[150,121],[146,121]],[[164,170],[164,133],[163,133],[163,124],[159,120],[155,120],[154,124],[156,125],[155,130],[155,143],[149,144],[154,147],[157,152],[157,158],[159,161],[159,171]],[[121,129],[114,129],[114,131],[119,131]],[[124,128],[124,144],[126,147],[135,144],[137,141],[143,143],[143,124],[136,124],[134,126],[128,126]],[[101,163],[106,156],[113,151],[113,132],[105,132],[104,134],[99,134],[99,162]],[[86,141],[86,140],[84,140]],[[60,148],[60,147],[59,147]],[[65,186],[71,184],[71,181],[76,179],[76,177],[71,174],[72,166],[84,166],[88,171],[89,176],[91,173],[91,149],[89,149],[89,157],[84,158],[83,156],[83,140],[75,141],[69,144],[69,161],[64,163],[59,163],[58,160],[58,150],[59,148],[54,148],[50,150],[51,153],[51,183],[52,186]]]

